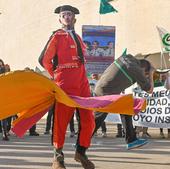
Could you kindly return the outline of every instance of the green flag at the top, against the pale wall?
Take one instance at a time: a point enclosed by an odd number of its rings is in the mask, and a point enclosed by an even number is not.
[[[110,0],[100,0],[100,14],[107,14],[110,12],[118,12],[112,5],[109,4]]]

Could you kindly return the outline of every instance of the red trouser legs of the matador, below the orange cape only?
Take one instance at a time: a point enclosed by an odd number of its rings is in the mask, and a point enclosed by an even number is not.
[[[56,105],[53,126],[53,144],[56,148],[62,148],[64,145],[67,126],[73,116],[74,109],[61,103]],[[95,126],[94,115],[92,111],[79,109],[79,116],[79,145],[88,148]]]

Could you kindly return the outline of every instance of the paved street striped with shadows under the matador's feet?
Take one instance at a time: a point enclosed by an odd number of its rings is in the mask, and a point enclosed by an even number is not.
[[[170,140],[159,138],[159,129],[149,129],[152,138],[143,148],[127,151],[123,138],[115,138],[116,126],[108,124],[107,138],[100,135],[93,138],[88,151],[89,158],[96,169],[170,169]],[[43,135],[44,120],[37,125],[39,137],[26,134],[22,139],[14,135],[9,142],[0,140],[0,169],[50,169],[53,158],[53,148],[50,136]],[[167,131],[165,130],[167,133]],[[74,161],[75,138],[69,138],[67,133],[64,147],[65,162],[68,169],[81,169]]]

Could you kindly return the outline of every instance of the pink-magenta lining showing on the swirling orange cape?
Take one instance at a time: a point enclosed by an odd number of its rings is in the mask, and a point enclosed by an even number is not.
[[[109,95],[109,96],[99,96],[99,97],[78,97],[78,96],[71,96],[71,98],[76,101],[78,104],[84,107],[104,107],[108,104],[116,101],[117,99],[123,97],[123,95]],[[138,113],[141,110],[141,107],[145,101],[145,99],[138,99],[134,98],[134,112]],[[39,121],[49,109],[46,109],[42,112],[36,113],[32,117],[27,119],[23,119],[18,122],[13,128],[12,131],[19,137],[23,137],[25,132],[31,128],[37,121]]]

